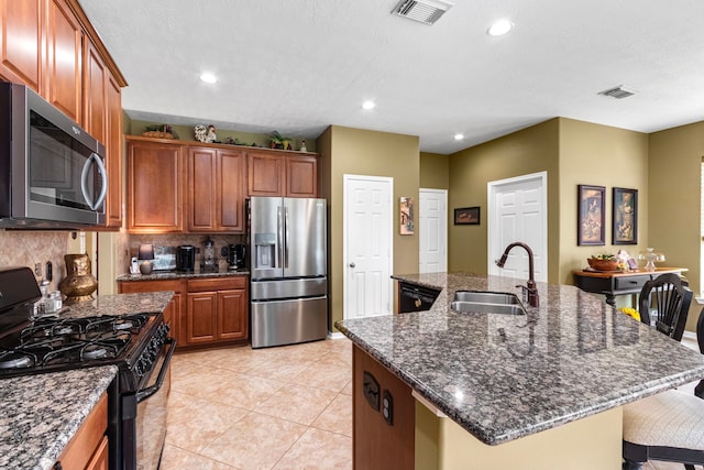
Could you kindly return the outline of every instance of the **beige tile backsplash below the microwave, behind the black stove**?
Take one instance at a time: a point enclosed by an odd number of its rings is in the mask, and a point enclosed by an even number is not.
[[[42,275],[45,276],[46,262],[51,261],[54,280],[48,289],[56,291],[58,283],[66,276],[64,255],[68,253],[69,233],[0,230],[0,266],[28,266],[34,271],[34,263],[42,263]]]

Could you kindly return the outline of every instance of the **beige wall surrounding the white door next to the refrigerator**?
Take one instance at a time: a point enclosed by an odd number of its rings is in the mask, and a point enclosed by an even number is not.
[[[323,195],[330,208],[330,327],[342,319],[342,205],[343,175],[370,175],[394,178],[394,265],[395,273],[418,272],[418,232],[400,236],[398,230],[399,198],[418,200],[419,151],[418,138],[387,132],[330,127],[318,140],[322,154]],[[329,184],[329,186],[328,186]]]

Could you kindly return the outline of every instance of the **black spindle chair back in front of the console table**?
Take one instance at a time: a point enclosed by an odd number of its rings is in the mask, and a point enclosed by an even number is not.
[[[660,274],[640,291],[640,320],[646,325],[654,324],[658,331],[681,341],[691,303],[692,291],[683,285],[678,274]]]

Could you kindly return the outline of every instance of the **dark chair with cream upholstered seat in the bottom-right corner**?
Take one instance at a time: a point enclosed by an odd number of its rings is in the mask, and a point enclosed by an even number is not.
[[[704,308],[696,323],[704,354]],[[624,470],[648,460],[680,462],[686,470],[704,464],[704,380],[695,394],[669,390],[624,406]]]

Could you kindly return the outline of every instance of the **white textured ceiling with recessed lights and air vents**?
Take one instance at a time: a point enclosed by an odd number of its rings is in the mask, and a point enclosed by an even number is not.
[[[433,26],[396,2],[80,0],[133,119],[307,139],[337,124],[443,154],[557,116],[641,132],[704,120],[702,0],[454,0]],[[488,36],[502,18],[514,31]],[[618,85],[638,92],[597,95]]]

